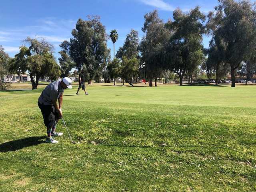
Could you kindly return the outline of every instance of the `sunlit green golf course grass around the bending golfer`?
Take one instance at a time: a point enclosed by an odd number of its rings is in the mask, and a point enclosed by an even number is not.
[[[58,144],[38,90],[0,92],[0,191],[256,190],[256,86],[65,90]]]

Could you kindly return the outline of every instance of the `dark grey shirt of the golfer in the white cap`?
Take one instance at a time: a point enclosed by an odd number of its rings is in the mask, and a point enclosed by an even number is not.
[[[44,105],[52,105],[52,100],[57,101],[64,92],[64,89],[60,86],[60,82],[61,80],[57,80],[46,86],[38,98],[38,102]]]

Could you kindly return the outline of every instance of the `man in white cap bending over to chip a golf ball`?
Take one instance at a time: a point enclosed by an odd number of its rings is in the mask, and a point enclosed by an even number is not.
[[[62,100],[64,89],[72,89],[72,80],[68,77],[50,83],[38,98],[38,106],[47,127],[46,143],[58,143],[52,136],[62,136],[63,133],[55,132],[59,119],[62,118]],[[59,106],[57,105],[57,100]]]

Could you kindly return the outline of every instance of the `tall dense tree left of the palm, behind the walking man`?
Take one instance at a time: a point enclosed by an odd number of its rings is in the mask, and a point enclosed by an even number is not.
[[[99,16],[88,16],[88,20],[78,19],[72,36],[65,46],[79,71],[83,65],[86,66],[90,84],[95,74],[102,72],[110,59],[105,27]]]

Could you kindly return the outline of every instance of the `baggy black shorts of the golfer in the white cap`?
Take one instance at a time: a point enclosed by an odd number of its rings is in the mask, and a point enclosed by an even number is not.
[[[44,125],[46,127],[52,127],[55,119],[60,119],[60,115],[53,105],[44,105],[38,103],[38,106],[42,112],[44,118]]]

